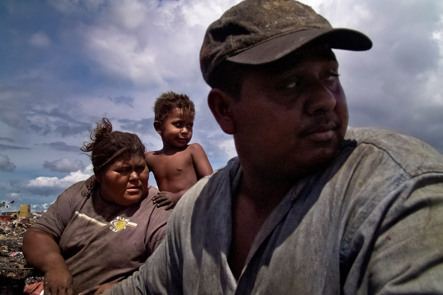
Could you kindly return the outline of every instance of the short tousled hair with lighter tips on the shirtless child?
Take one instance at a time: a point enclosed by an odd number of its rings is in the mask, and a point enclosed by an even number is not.
[[[154,103],[154,119],[163,123],[164,118],[175,108],[183,110],[185,114],[195,114],[194,103],[188,95],[168,91],[161,93]]]

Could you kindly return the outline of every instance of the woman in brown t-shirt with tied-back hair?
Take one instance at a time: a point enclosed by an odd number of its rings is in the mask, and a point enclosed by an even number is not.
[[[66,189],[23,239],[28,263],[44,272],[44,294],[100,294],[137,270],[166,230],[169,211],[148,187],[145,147],[103,118],[82,151],[94,176]]]

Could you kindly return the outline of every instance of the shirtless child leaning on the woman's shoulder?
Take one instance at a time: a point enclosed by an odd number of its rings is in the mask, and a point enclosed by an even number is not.
[[[199,144],[188,145],[192,138],[194,104],[186,94],[162,93],[154,104],[154,127],[163,148],[146,153],[148,168],[156,178],[158,190],[153,198],[157,207],[172,209],[198,179],[213,170]]]

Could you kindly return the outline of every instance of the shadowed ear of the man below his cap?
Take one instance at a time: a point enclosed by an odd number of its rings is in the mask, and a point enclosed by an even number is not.
[[[221,129],[227,134],[234,134],[235,124],[232,118],[234,98],[221,89],[213,88],[208,94],[208,105]]]

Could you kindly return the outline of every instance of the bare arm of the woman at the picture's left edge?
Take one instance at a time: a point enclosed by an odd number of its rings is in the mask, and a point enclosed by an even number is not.
[[[23,237],[23,255],[30,265],[45,273],[45,294],[73,295],[72,275],[54,236],[30,228]]]

